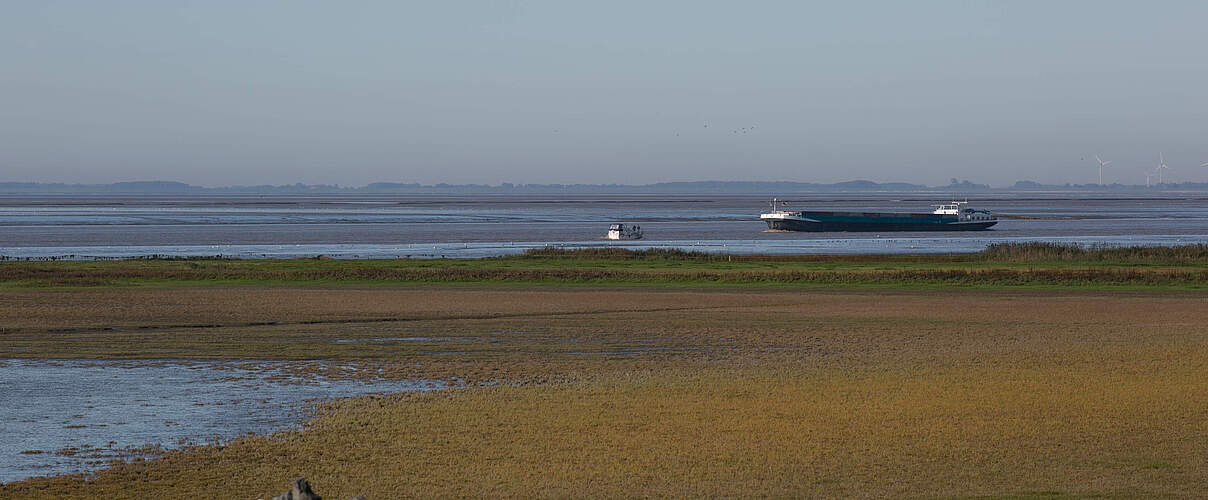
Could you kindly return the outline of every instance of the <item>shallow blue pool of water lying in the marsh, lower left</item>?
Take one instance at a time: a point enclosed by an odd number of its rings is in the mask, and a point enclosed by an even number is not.
[[[0,482],[89,472],[149,446],[289,429],[316,400],[443,388],[294,377],[286,365],[0,360]]]

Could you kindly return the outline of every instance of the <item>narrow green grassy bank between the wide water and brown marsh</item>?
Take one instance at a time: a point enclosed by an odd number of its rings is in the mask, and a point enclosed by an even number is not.
[[[0,289],[222,284],[1190,290],[1208,284],[1208,246],[1021,243],[980,254],[789,257],[605,248],[464,260],[0,262]]]

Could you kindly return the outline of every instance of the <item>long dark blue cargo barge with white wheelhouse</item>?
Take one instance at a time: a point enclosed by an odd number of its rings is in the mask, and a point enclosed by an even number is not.
[[[994,214],[969,208],[969,202],[939,205],[930,214],[780,210],[777,202],[760,219],[778,231],[981,231],[998,223]]]

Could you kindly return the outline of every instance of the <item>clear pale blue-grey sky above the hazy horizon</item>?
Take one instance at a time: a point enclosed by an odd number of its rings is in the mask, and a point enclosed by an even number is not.
[[[0,181],[1208,181],[1204,1],[0,4]]]

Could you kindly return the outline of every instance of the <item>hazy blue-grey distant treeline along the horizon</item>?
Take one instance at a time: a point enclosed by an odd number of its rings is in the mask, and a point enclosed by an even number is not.
[[[971,193],[994,190],[986,184],[952,179],[947,186],[925,186],[907,182],[873,182],[853,180],[834,184],[817,182],[748,182],[748,181],[685,181],[645,185],[627,184],[511,184],[498,186],[484,184],[435,184],[373,182],[367,186],[339,185],[261,185],[203,187],[175,181],[133,181],[114,184],[42,184],[0,182],[0,194],[315,194],[315,193],[397,193],[397,194],[643,194],[643,193],[716,193],[716,194],[786,194],[795,192],[876,192],[876,191],[952,191]],[[1018,181],[1006,191],[1160,191],[1160,190],[1208,190],[1208,184],[1184,182],[1162,186],[1128,186],[1113,184],[1046,185]]]

